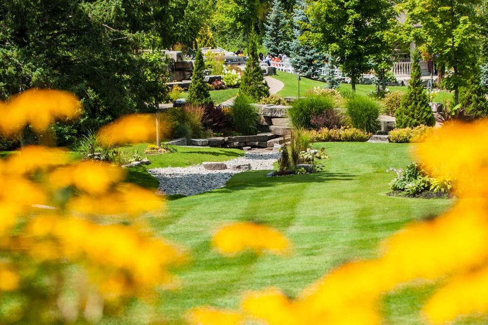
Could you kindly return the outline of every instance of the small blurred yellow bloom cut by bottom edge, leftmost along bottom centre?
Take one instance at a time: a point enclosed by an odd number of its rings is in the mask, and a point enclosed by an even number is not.
[[[238,325],[241,316],[233,310],[199,307],[187,314],[187,320],[191,325]]]

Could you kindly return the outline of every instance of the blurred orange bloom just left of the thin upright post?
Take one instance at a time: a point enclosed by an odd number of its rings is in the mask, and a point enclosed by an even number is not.
[[[106,146],[125,143],[154,142],[156,119],[150,114],[126,115],[103,126],[98,138]]]

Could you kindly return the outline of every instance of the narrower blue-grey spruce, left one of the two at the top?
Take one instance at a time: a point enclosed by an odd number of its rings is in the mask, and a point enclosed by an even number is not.
[[[281,0],[273,0],[272,9],[266,18],[263,43],[273,54],[289,54],[290,37],[288,34],[288,20]]]

